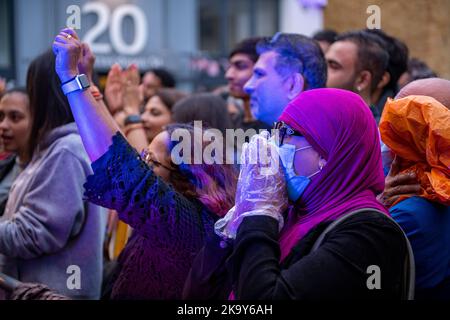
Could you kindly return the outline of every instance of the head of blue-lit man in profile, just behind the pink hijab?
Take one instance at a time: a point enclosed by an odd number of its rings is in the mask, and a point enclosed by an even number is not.
[[[319,45],[299,35],[277,33],[257,46],[259,56],[244,90],[253,115],[272,126],[287,104],[305,90],[323,88],[327,66]]]

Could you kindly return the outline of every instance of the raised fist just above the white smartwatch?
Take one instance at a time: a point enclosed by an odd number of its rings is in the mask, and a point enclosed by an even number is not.
[[[77,33],[70,29],[62,29],[53,42],[56,56],[55,70],[62,83],[79,74],[78,63],[82,57],[83,46]]]

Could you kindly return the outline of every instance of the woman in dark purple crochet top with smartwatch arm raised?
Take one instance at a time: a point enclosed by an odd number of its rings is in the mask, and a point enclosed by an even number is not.
[[[61,82],[70,82],[79,74],[81,42],[77,34],[62,30],[53,50]],[[176,146],[171,133],[175,129],[192,133],[190,126],[169,126],[140,157],[88,90],[72,91],[67,98],[93,161],[94,175],[88,177],[86,196],[116,210],[136,233],[125,248],[127,258],[114,282],[112,298],[181,298],[193,257],[204,244],[205,235],[213,233],[214,221],[234,203],[233,167],[175,164],[170,156]],[[205,142],[201,150],[204,148]]]

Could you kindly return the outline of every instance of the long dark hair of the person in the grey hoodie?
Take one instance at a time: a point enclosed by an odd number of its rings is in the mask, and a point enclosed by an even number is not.
[[[55,56],[51,50],[31,62],[27,74],[27,92],[32,119],[28,144],[31,157],[51,130],[74,121],[69,102],[61,91],[61,81],[55,71]]]

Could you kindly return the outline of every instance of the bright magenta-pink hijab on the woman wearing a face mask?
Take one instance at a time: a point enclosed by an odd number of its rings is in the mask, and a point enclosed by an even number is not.
[[[327,160],[290,211],[281,233],[281,260],[319,223],[363,208],[388,214],[376,200],[384,189],[379,133],[360,96],[340,89],[305,91],[280,120]]]

